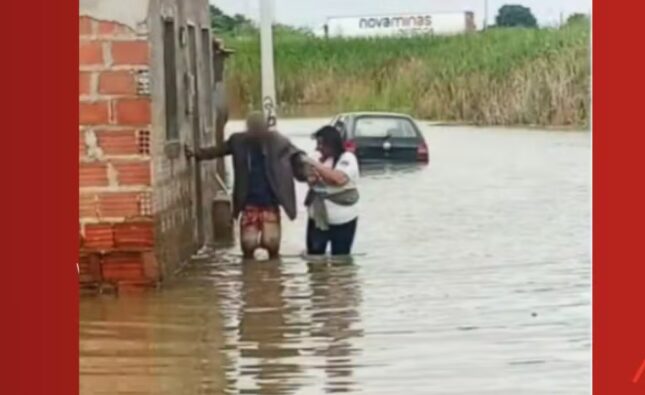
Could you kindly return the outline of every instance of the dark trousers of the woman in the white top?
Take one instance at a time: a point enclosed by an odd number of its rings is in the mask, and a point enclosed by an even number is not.
[[[356,224],[358,219],[342,225],[329,225],[328,230],[316,228],[316,224],[309,219],[307,224],[307,254],[324,255],[327,244],[331,244],[332,255],[349,255],[354,244]]]

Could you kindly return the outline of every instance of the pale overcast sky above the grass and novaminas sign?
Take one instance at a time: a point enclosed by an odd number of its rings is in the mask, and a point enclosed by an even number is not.
[[[244,14],[257,20],[261,0],[211,0],[227,14]],[[401,14],[409,12],[473,11],[481,27],[485,0],[273,0],[277,22],[319,28],[330,16]],[[574,12],[590,13],[591,0],[488,0],[489,20],[500,6],[530,7],[541,25],[557,24]]]

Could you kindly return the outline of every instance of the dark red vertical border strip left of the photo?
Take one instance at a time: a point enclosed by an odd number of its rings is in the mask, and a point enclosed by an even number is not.
[[[78,394],[77,4],[3,3],[3,394]]]

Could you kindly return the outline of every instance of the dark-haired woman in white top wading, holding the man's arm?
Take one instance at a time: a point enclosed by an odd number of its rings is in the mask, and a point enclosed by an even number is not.
[[[345,150],[340,132],[333,126],[314,137],[320,160],[310,160],[307,253],[323,255],[331,245],[332,255],[350,255],[358,222],[358,160]]]

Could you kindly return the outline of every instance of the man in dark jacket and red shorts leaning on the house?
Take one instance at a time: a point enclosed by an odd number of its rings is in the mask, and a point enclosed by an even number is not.
[[[274,259],[280,254],[280,207],[295,219],[294,178],[307,180],[305,154],[270,131],[262,113],[249,115],[246,126],[245,132],[232,134],[219,146],[195,153],[186,147],[186,154],[198,161],[233,156],[233,217],[241,214],[242,253],[252,259],[258,248],[264,248]]]

